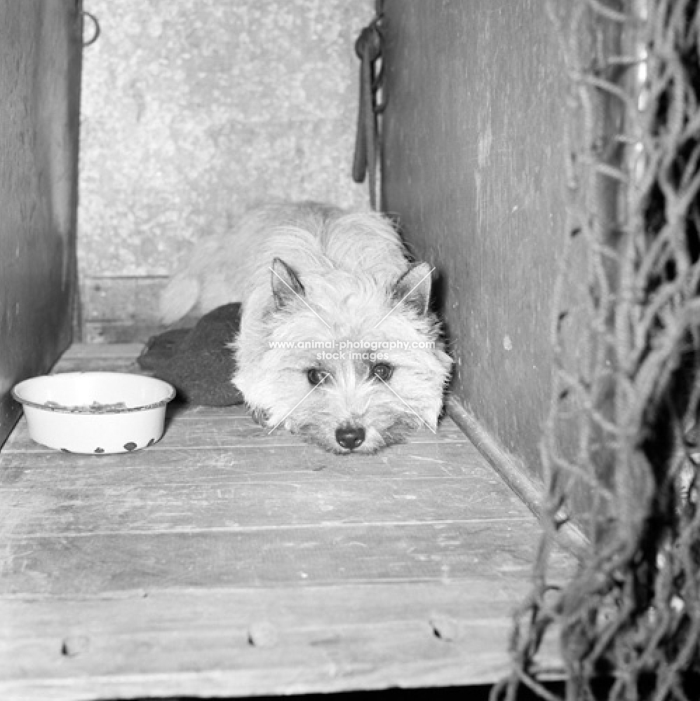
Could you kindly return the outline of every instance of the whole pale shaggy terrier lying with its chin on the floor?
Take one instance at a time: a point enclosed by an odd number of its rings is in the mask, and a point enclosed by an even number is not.
[[[161,297],[166,323],[241,301],[232,382],[264,426],[335,453],[435,430],[452,359],[431,268],[389,219],[317,203],[252,210],[203,238]]]

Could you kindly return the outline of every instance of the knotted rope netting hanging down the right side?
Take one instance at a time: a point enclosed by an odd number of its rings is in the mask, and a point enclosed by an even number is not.
[[[557,698],[538,652],[560,636],[567,701],[689,700],[700,667],[699,0],[549,6],[570,76],[567,248],[556,290],[548,482],[512,674]],[[567,583],[549,553],[587,542]],[[604,680],[604,681],[601,681]]]

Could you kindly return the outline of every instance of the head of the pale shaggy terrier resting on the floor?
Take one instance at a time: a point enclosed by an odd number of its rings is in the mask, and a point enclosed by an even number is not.
[[[302,280],[280,259],[271,276],[255,373],[234,378],[267,426],[335,453],[435,429],[452,360],[429,310],[427,264],[391,285],[340,271]]]

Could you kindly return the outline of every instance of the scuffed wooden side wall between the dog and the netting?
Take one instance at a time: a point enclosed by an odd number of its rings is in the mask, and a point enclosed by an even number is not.
[[[532,474],[565,215],[565,72],[541,0],[386,0],[384,205],[441,273],[453,391]]]

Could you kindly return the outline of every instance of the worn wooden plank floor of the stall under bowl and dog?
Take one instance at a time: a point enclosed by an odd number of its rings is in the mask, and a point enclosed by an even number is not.
[[[139,351],[74,346],[57,371],[137,372]],[[0,698],[491,683],[538,537],[450,419],[363,457],[240,407],[173,405],[159,443],[113,456],[45,449],[22,418],[0,451]]]

